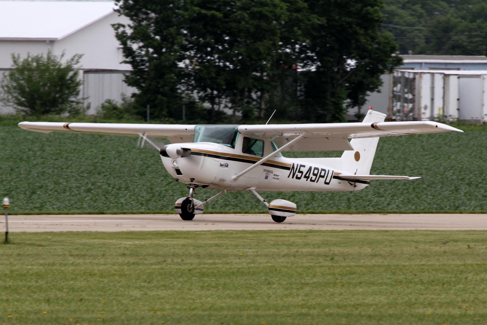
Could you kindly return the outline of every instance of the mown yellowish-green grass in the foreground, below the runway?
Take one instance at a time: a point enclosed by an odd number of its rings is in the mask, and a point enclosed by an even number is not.
[[[0,324],[487,323],[486,232],[11,238],[0,245]]]

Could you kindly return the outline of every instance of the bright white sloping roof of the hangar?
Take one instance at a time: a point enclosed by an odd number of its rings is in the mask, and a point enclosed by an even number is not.
[[[0,0],[0,40],[58,40],[114,7],[112,0]]]

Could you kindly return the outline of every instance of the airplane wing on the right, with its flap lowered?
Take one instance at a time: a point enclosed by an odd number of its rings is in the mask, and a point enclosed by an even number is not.
[[[463,132],[432,121],[242,125],[238,130],[248,136],[272,138],[278,146],[288,143],[303,132],[307,133],[304,139],[288,147],[287,151],[353,150],[348,139]]]

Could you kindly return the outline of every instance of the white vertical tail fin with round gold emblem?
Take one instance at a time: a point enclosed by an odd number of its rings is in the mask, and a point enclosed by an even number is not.
[[[369,109],[362,123],[372,125],[375,122],[383,122],[386,116],[386,114]],[[343,152],[341,156],[342,169],[352,174],[369,175],[378,142],[378,137],[352,139],[350,144],[354,147],[354,150]]]

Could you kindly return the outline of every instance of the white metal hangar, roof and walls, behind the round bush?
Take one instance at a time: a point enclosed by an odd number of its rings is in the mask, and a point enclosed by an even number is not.
[[[82,97],[87,113],[95,113],[105,99],[118,101],[135,90],[123,82],[131,69],[121,64],[122,51],[113,23],[129,19],[113,11],[112,0],[0,0],[0,78],[12,66],[11,54],[83,54]],[[1,105],[1,104],[0,104]],[[0,106],[0,113],[12,112]]]

